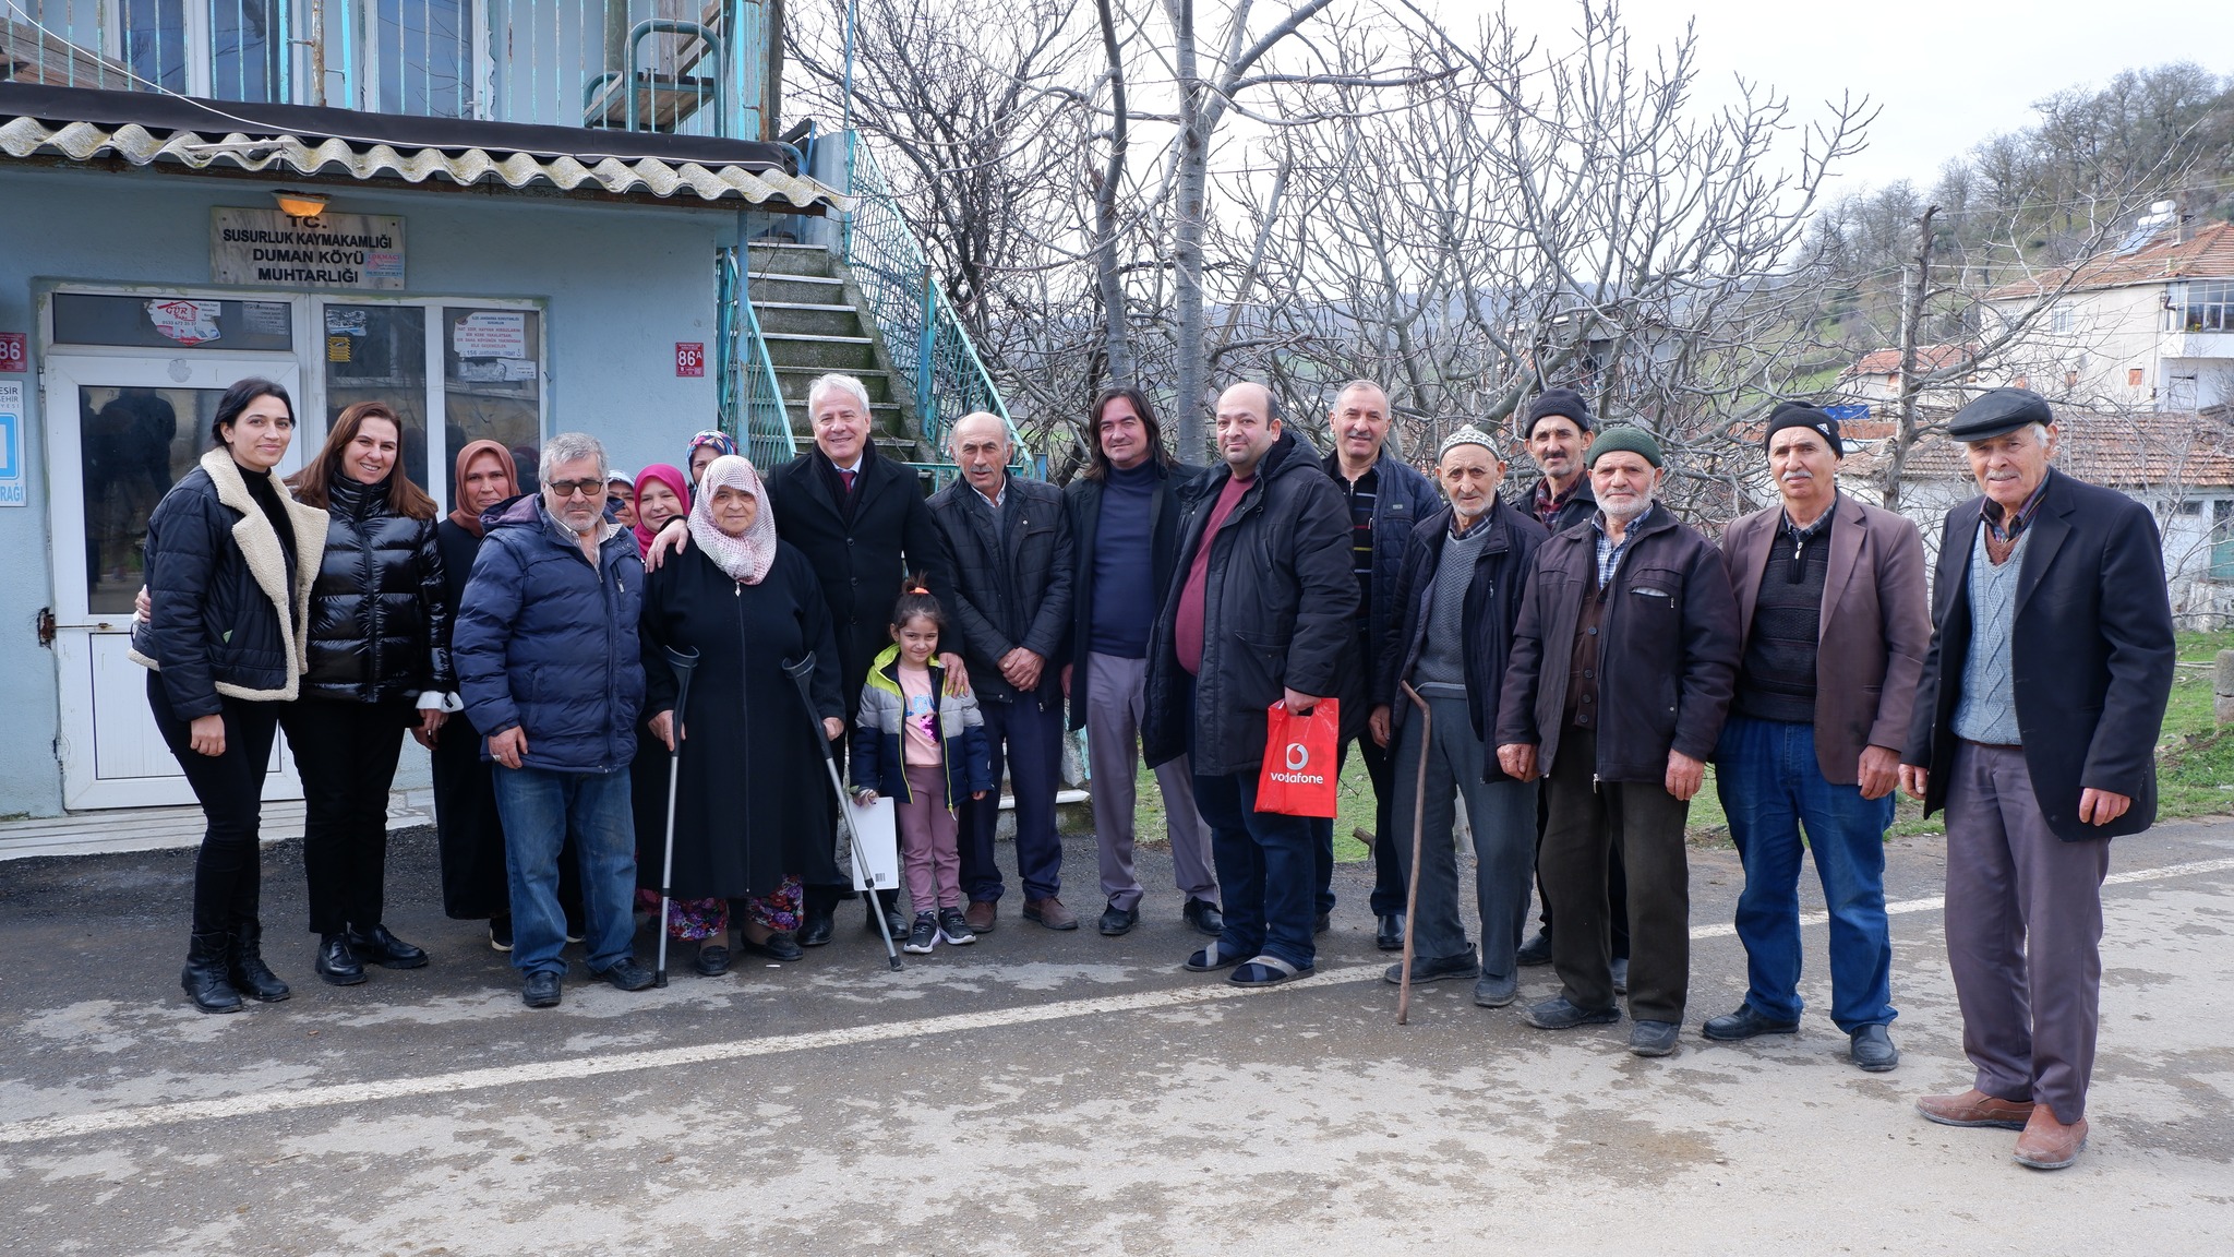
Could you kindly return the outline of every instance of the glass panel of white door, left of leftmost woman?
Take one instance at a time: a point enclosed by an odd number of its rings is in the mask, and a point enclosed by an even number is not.
[[[194,470],[223,389],[78,389],[85,476],[85,604],[132,615],[147,514]]]

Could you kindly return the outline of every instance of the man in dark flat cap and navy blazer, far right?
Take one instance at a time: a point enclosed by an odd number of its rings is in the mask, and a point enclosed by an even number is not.
[[[2022,1130],[2060,1170],[2087,1145],[2109,841],[2156,821],[2171,606],[2156,521],[2053,467],[2055,416],[1995,389],[1948,423],[1982,497],[1948,512],[1901,790],[1946,810],[1946,935],[1964,1056],[1941,1125]]]

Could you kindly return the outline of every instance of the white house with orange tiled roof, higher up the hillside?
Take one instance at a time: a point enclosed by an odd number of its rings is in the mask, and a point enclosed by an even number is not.
[[[1986,306],[2004,327],[2028,318],[1988,385],[2095,409],[2234,403],[2234,224],[2158,201],[2116,251],[2004,284]]]

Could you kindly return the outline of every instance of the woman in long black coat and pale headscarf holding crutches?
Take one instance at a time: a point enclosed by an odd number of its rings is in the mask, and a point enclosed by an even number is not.
[[[737,901],[742,946],[800,955],[798,886],[836,881],[829,803],[809,783],[827,781],[815,725],[844,731],[838,642],[815,573],[775,539],[775,514],[753,463],[715,459],[690,508],[690,550],[648,577],[643,595],[646,727],[657,738],[637,763],[681,752],[675,790],[675,895]],[[690,705],[675,722],[675,671],[666,649],[697,651]],[[784,673],[813,653],[813,718]],[[639,794],[646,798],[646,794]],[[659,886],[666,839],[666,778],[650,816],[637,812],[639,883]],[[782,915],[768,913],[777,892]],[[672,926],[672,922],[670,922]],[[775,928],[784,926],[784,928]],[[699,973],[728,966],[726,937],[699,926]]]

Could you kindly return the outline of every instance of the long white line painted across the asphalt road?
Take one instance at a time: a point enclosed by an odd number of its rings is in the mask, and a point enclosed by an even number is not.
[[[2234,870],[2234,859],[2205,859],[2194,863],[2169,863],[2160,868],[2133,868],[2109,875],[2109,883],[2156,881],[2167,877],[2194,877],[2200,872]],[[1888,913],[1926,913],[1939,908],[1939,899],[1903,899],[1888,904]],[[1823,924],[1823,913],[1810,913],[1803,924]],[[1693,939],[1729,937],[1731,926],[1700,926]],[[1352,964],[1298,977],[1287,986],[1345,986],[1352,982],[1381,980],[1383,964]],[[127,1109],[105,1109],[89,1114],[56,1114],[0,1125],[0,1145],[36,1143],[47,1138],[78,1138],[87,1134],[109,1134],[118,1130],[176,1125],[192,1121],[221,1121],[295,1109],[331,1109],[342,1105],[366,1105],[380,1100],[411,1100],[420,1096],[449,1096],[458,1091],[485,1091],[534,1083],[547,1087],[570,1078],[601,1078],[605,1074],[634,1074],[641,1069],[677,1069],[686,1065],[708,1065],[722,1060],[748,1060],[755,1056],[786,1056],[793,1051],[815,1051],[824,1047],[858,1047],[867,1042],[905,1040],[918,1036],[952,1036],[956,1031],[1021,1027],[1032,1022],[1057,1022],[1066,1018],[1092,1018],[1101,1013],[1142,1013],[1157,1009],[1182,1009],[1209,1004],[1213,1000],[1235,1000],[1258,995],[1258,991],[1213,982],[1209,986],[1182,986],[1175,991],[1135,991],[1130,995],[1101,995],[1095,1000],[1061,1000],[1023,1009],[987,1009],[983,1013],[949,1013],[943,1018],[918,1018],[907,1022],[876,1022],[836,1031],[798,1036],[748,1038],[731,1042],[708,1042],[697,1047],[663,1047],[655,1051],[623,1051],[614,1056],[576,1056],[565,1060],[536,1060],[527,1065],[498,1065],[489,1069],[462,1069],[456,1074],[433,1074],[427,1078],[384,1078],[380,1083],[315,1085],[281,1091],[257,1091],[250,1096],[226,1096],[217,1100],[179,1100],[170,1105],[139,1105]]]

